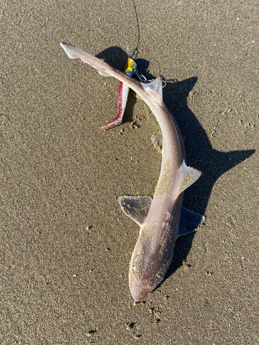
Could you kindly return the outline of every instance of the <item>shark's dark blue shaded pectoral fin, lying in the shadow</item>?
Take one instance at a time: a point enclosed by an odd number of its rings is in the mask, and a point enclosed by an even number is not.
[[[205,217],[193,211],[182,208],[178,237],[187,235],[195,231],[204,222]]]

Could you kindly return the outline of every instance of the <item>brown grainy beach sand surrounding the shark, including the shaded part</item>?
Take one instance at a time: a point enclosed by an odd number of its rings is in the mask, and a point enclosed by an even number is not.
[[[258,6],[135,9],[2,3],[1,344],[259,344]],[[128,288],[139,227],[117,199],[153,196],[160,128],[131,93],[123,124],[101,132],[118,82],[68,59],[61,41],[121,70],[128,44],[140,72],[162,75],[188,164],[203,172],[184,206],[204,226],[178,239],[165,281],[139,304]]]

